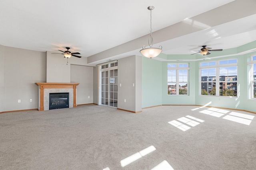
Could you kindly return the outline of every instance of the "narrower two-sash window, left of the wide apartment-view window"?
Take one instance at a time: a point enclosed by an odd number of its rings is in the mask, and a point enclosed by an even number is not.
[[[167,64],[168,94],[188,95],[188,63]]]

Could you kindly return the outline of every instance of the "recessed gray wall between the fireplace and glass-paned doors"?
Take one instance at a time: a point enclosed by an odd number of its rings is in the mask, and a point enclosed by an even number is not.
[[[93,67],[71,64],[71,83],[77,86],[76,104],[91,104],[93,102]],[[90,98],[88,98],[90,96]]]

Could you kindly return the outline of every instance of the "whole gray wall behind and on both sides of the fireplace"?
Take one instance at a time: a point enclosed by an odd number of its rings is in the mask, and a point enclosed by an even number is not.
[[[71,57],[67,65],[63,55],[51,53],[55,52],[0,45],[0,112],[38,108],[38,86],[35,82],[47,82],[46,72],[48,82],[80,83],[77,104],[93,102],[94,65],[87,64],[86,57]]]

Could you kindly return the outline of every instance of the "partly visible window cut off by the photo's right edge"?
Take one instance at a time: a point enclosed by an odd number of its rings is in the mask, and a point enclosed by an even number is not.
[[[256,56],[251,57],[250,62],[248,63],[250,66],[249,78],[250,78],[250,93],[252,97],[251,99],[256,99]]]

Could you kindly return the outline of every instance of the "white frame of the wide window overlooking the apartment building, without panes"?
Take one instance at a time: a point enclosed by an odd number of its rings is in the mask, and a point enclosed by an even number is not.
[[[234,63],[234,60],[236,60],[236,63]],[[229,67],[232,67],[232,66],[236,66],[236,78],[235,78],[236,80],[234,80],[234,78],[232,78],[232,76],[226,76],[225,80],[222,80],[220,75],[223,74],[223,73],[220,72],[220,68],[225,68],[225,67],[229,68]],[[208,69],[208,71],[209,71],[209,69],[215,69],[215,77],[209,77],[210,74],[208,74],[208,76],[206,78],[206,81],[203,81],[202,80],[202,70],[203,69]],[[227,74],[229,75],[229,73],[227,73]],[[236,96],[222,96],[220,94],[220,86],[221,85],[223,86],[223,85],[228,84],[228,83],[229,84],[230,83],[232,83],[232,84],[235,83],[236,86],[237,86],[237,77],[238,77],[237,74],[238,74],[238,59],[237,58],[223,59],[223,60],[219,60],[219,61],[210,61],[210,62],[200,62],[199,63],[199,77],[200,77],[199,78],[199,84],[201,84],[201,85],[199,86],[199,95],[200,96],[218,96],[218,97],[238,98],[237,94],[236,94]],[[208,79],[210,79],[210,80],[213,79],[213,80],[209,81]],[[209,95],[210,89],[208,89],[209,88],[207,86],[208,83],[211,83],[211,86],[213,86],[213,87],[214,87],[214,84],[215,84],[215,90],[216,90],[215,95]],[[206,88],[204,88],[204,89],[207,89],[206,90],[207,95],[202,94],[202,89],[203,89],[202,84],[206,84]],[[226,89],[226,87],[225,87],[225,89]],[[236,90],[237,90],[237,88],[235,89],[235,91]]]

